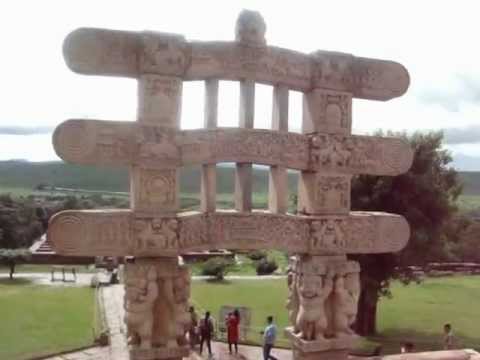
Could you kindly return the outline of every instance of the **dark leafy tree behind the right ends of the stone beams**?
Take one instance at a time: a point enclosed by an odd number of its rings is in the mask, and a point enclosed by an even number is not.
[[[377,302],[380,296],[390,295],[391,279],[408,283],[412,274],[406,266],[448,260],[451,255],[446,230],[457,212],[455,200],[462,186],[457,172],[448,166],[449,152],[441,148],[443,134],[395,135],[414,150],[410,170],[396,177],[361,175],[352,181],[352,210],[400,214],[411,228],[410,241],[398,254],[351,256],[362,269],[355,324],[360,335],[375,334]]]

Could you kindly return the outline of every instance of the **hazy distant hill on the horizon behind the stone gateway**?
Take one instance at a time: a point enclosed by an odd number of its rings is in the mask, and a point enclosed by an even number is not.
[[[460,172],[464,182],[464,195],[480,195],[480,172]],[[255,167],[253,191],[264,193],[268,189],[268,168]],[[289,173],[289,186],[296,189],[298,172]],[[72,165],[64,162],[0,161],[0,192],[2,187],[33,189],[39,184],[86,190],[128,191],[129,180],[126,168],[108,168]],[[200,191],[200,167],[181,170],[180,191]],[[217,192],[234,191],[234,167],[218,166]]]

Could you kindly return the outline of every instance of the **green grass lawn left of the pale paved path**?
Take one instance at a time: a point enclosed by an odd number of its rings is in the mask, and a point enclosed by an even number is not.
[[[0,359],[20,360],[93,343],[94,291],[0,280]]]

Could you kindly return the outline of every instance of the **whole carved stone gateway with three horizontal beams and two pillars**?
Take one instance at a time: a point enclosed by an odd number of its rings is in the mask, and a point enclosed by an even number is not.
[[[297,254],[288,274],[293,357],[344,360],[356,338],[360,294],[359,265],[345,254],[399,251],[408,241],[402,216],[350,212],[352,175],[398,175],[413,160],[402,139],[352,136],[352,99],[401,96],[407,70],[392,61],[269,46],[266,28],[258,12],[244,10],[235,41],[88,28],[65,39],[73,71],[138,80],[135,123],[68,120],[53,136],[66,161],[128,166],[131,210],[64,211],[48,228],[62,255],[136,256],[125,284],[132,360],[188,354],[190,277],[177,255],[218,248]],[[180,130],[188,80],[205,81],[206,129]],[[240,82],[238,129],[217,128],[219,80]],[[256,83],[274,89],[271,130],[253,129]],[[304,93],[302,134],[288,132],[290,90]],[[218,162],[236,163],[237,211],[216,211]],[[270,166],[270,212],[252,212],[252,163]],[[202,212],[179,212],[178,169],[190,165],[202,166]],[[297,215],[285,214],[287,169],[301,171]]]

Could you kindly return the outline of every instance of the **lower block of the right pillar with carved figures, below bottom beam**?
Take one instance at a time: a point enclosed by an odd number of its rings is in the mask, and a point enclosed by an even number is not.
[[[345,255],[291,259],[287,308],[295,360],[346,359],[357,336],[359,264]]]

